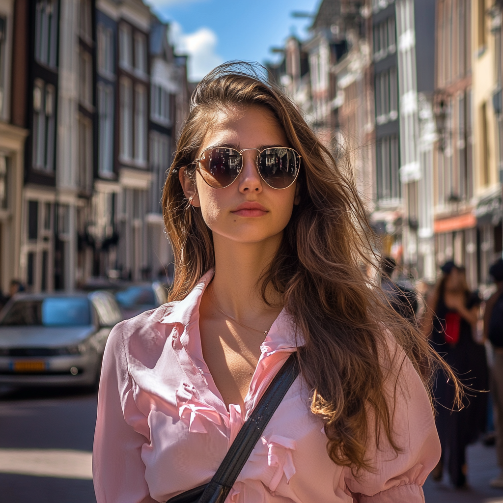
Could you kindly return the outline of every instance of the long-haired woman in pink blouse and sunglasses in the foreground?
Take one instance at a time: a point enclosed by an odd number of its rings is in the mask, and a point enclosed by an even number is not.
[[[213,70],[162,204],[175,281],[168,304],[110,335],[98,503],[208,482],[294,351],[301,374],[226,501],[424,501],[440,457],[434,352],[366,282],[353,182],[295,106],[249,65]]]

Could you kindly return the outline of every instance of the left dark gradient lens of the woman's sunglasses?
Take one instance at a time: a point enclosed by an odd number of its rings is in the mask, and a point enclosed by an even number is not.
[[[225,147],[205,150],[198,163],[204,181],[215,189],[228,187],[239,175],[243,164],[237,150]]]

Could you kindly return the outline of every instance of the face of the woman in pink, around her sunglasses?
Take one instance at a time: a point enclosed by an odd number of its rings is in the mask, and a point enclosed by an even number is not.
[[[232,108],[220,117],[206,134],[198,155],[209,147],[226,146],[236,150],[269,146],[289,146],[285,132],[269,110],[262,107]],[[239,176],[223,189],[210,187],[196,172],[196,186],[180,172],[180,182],[192,204],[201,207],[204,221],[216,235],[237,242],[259,242],[281,235],[297,203],[297,184],[273,189],[259,175],[258,150],[242,152]],[[250,203],[255,203],[254,206]],[[247,208],[248,207],[248,208]]]

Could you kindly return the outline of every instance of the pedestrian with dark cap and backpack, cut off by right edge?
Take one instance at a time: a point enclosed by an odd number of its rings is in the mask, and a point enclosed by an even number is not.
[[[496,291],[487,299],[484,312],[484,338],[493,349],[491,396],[494,403],[496,453],[501,473],[490,481],[492,487],[503,488],[503,259],[489,268]]]

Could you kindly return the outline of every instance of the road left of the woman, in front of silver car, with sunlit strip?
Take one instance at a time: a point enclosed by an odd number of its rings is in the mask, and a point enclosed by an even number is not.
[[[86,466],[96,403],[75,389],[0,393],[0,503],[96,503]],[[51,476],[26,474],[41,472]]]

